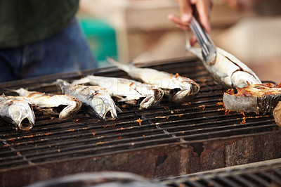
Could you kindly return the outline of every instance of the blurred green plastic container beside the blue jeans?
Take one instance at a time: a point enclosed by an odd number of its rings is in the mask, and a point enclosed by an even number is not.
[[[110,66],[107,56],[118,59],[115,30],[110,25],[96,18],[79,18],[79,25],[98,60],[98,67]]]

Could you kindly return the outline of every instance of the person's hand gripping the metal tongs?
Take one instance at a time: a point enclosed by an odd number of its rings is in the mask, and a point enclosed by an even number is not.
[[[181,13],[181,18],[178,18],[176,15],[168,15],[168,19],[176,24],[176,27],[181,28],[182,30],[190,30],[190,22],[192,18],[192,6],[195,6],[195,9],[198,13],[199,21],[204,27],[204,30],[211,32],[211,23],[210,23],[210,13],[213,3],[211,0],[176,0],[179,4],[179,9]],[[190,39],[190,45],[196,43],[195,36],[192,36]]]

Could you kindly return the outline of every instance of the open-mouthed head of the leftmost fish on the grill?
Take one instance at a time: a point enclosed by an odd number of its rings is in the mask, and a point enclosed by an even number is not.
[[[21,130],[31,129],[35,123],[35,115],[28,103],[16,102],[8,107],[10,121]]]

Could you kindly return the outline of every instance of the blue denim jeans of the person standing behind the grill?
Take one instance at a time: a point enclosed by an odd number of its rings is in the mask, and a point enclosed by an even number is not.
[[[53,37],[17,48],[0,49],[0,82],[96,67],[76,18]]]

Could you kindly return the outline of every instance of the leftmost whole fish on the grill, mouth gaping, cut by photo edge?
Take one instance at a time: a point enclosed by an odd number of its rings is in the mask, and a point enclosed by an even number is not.
[[[35,123],[30,100],[21,96],[0,96],[0,115],[21,130],[29,130]]]

